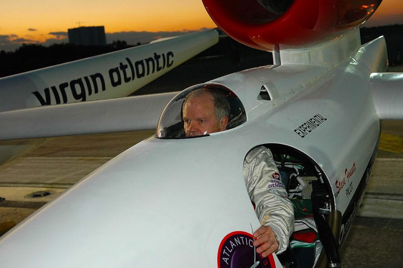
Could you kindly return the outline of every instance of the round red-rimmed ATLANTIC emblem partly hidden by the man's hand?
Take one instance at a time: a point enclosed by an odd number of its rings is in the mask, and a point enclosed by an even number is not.
[[[218,268],[241,268],[250,267],[254,260],[259,261],[255,267],[276,267],[273,254],[262,258],[259,254],[254,257],[253,235],[237,231],[229,233],[220,243],[217,254]]]

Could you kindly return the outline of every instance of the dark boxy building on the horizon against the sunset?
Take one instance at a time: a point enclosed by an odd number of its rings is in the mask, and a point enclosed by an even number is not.
[[[85,46],[104,46],[106,36],[104,26],[79,27],[69,29],[69,43]]]

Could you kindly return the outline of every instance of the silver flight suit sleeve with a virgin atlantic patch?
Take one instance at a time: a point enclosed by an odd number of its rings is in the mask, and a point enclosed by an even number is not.
[[[243,163],[243,175],[260,224],[272,227],[279,242],[276,253],[283,252],[294,230],[294,208],[272,152],[264,146],[251,150]]]

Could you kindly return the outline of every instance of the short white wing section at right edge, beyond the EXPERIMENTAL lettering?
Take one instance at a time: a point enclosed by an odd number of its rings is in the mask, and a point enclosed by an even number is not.
[[[403,73],[371,74],[371,94],[380,119],[403,119]]]

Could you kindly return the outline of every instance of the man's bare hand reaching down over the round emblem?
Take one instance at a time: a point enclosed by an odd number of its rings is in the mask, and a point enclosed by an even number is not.
[[[253,236],[256,240],[253,242],[253,246],[256,247],[256,252],[263,258],[276,252],[279,249],[279,242],[277,242],[276,235],[270,226],[260,226]]]

